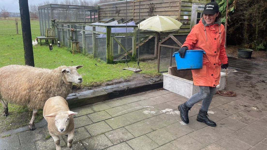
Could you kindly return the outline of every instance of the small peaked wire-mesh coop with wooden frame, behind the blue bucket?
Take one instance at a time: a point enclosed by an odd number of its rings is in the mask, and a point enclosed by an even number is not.
[[[175,58],[172,57],[185,42],[187,34],[170,34],[159,42],[158,48],[158,72],[168,72],[168,68],[176,66]]]

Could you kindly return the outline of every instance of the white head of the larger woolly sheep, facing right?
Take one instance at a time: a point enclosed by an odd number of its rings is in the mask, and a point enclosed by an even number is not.
[[[82,68],[83,66],[68,66],[61,70],[61,73],[64,74],[64,77],[67,82],[74,82],[80,84],[83,81],[81,75],[77,72],[77,69]]]

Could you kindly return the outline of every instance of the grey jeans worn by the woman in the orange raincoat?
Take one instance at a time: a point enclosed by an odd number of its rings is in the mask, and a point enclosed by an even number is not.
[[[189,100],[186,101],[188,107],[192,107],[197,102],[202,101],[201,110],[208,111],[210,102],[213,95],[216,93],[216,87],[211,86],[199,86],[200,92],[192,95]]]

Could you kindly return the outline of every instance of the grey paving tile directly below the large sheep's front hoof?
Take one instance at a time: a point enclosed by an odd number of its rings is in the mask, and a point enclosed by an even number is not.
[[[18,134],[20,143],[29,143],[39,141],[45,138],[45,128],[35,129],[33,131],[21,132]]]

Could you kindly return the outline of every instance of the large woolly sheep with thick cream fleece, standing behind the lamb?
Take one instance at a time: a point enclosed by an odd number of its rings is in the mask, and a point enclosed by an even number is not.
[[[29,129],[34,130],[38,109],[43,109],[50,97],[66,98],[72,83],[81,83],[77,69],[83,66],[60,66],[56,69],[36,68],[23,65],[8,65],[0,68],[0,101],[4,116],[8,115],[7,103],[28,106],[33,109]]]

